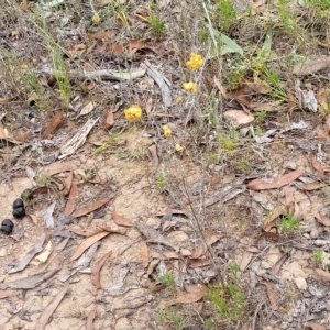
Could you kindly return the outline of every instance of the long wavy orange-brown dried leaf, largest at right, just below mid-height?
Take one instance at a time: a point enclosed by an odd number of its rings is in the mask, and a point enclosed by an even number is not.
[[[267,183],[262,178],[256,178],[248,184],[248,188],[251,190],[265,190],[265,189],[280,188],[283,186],[290,184],[304,173],[305,173],[304,168],[298,168],[288,174],[274,177],[270,183]]]

